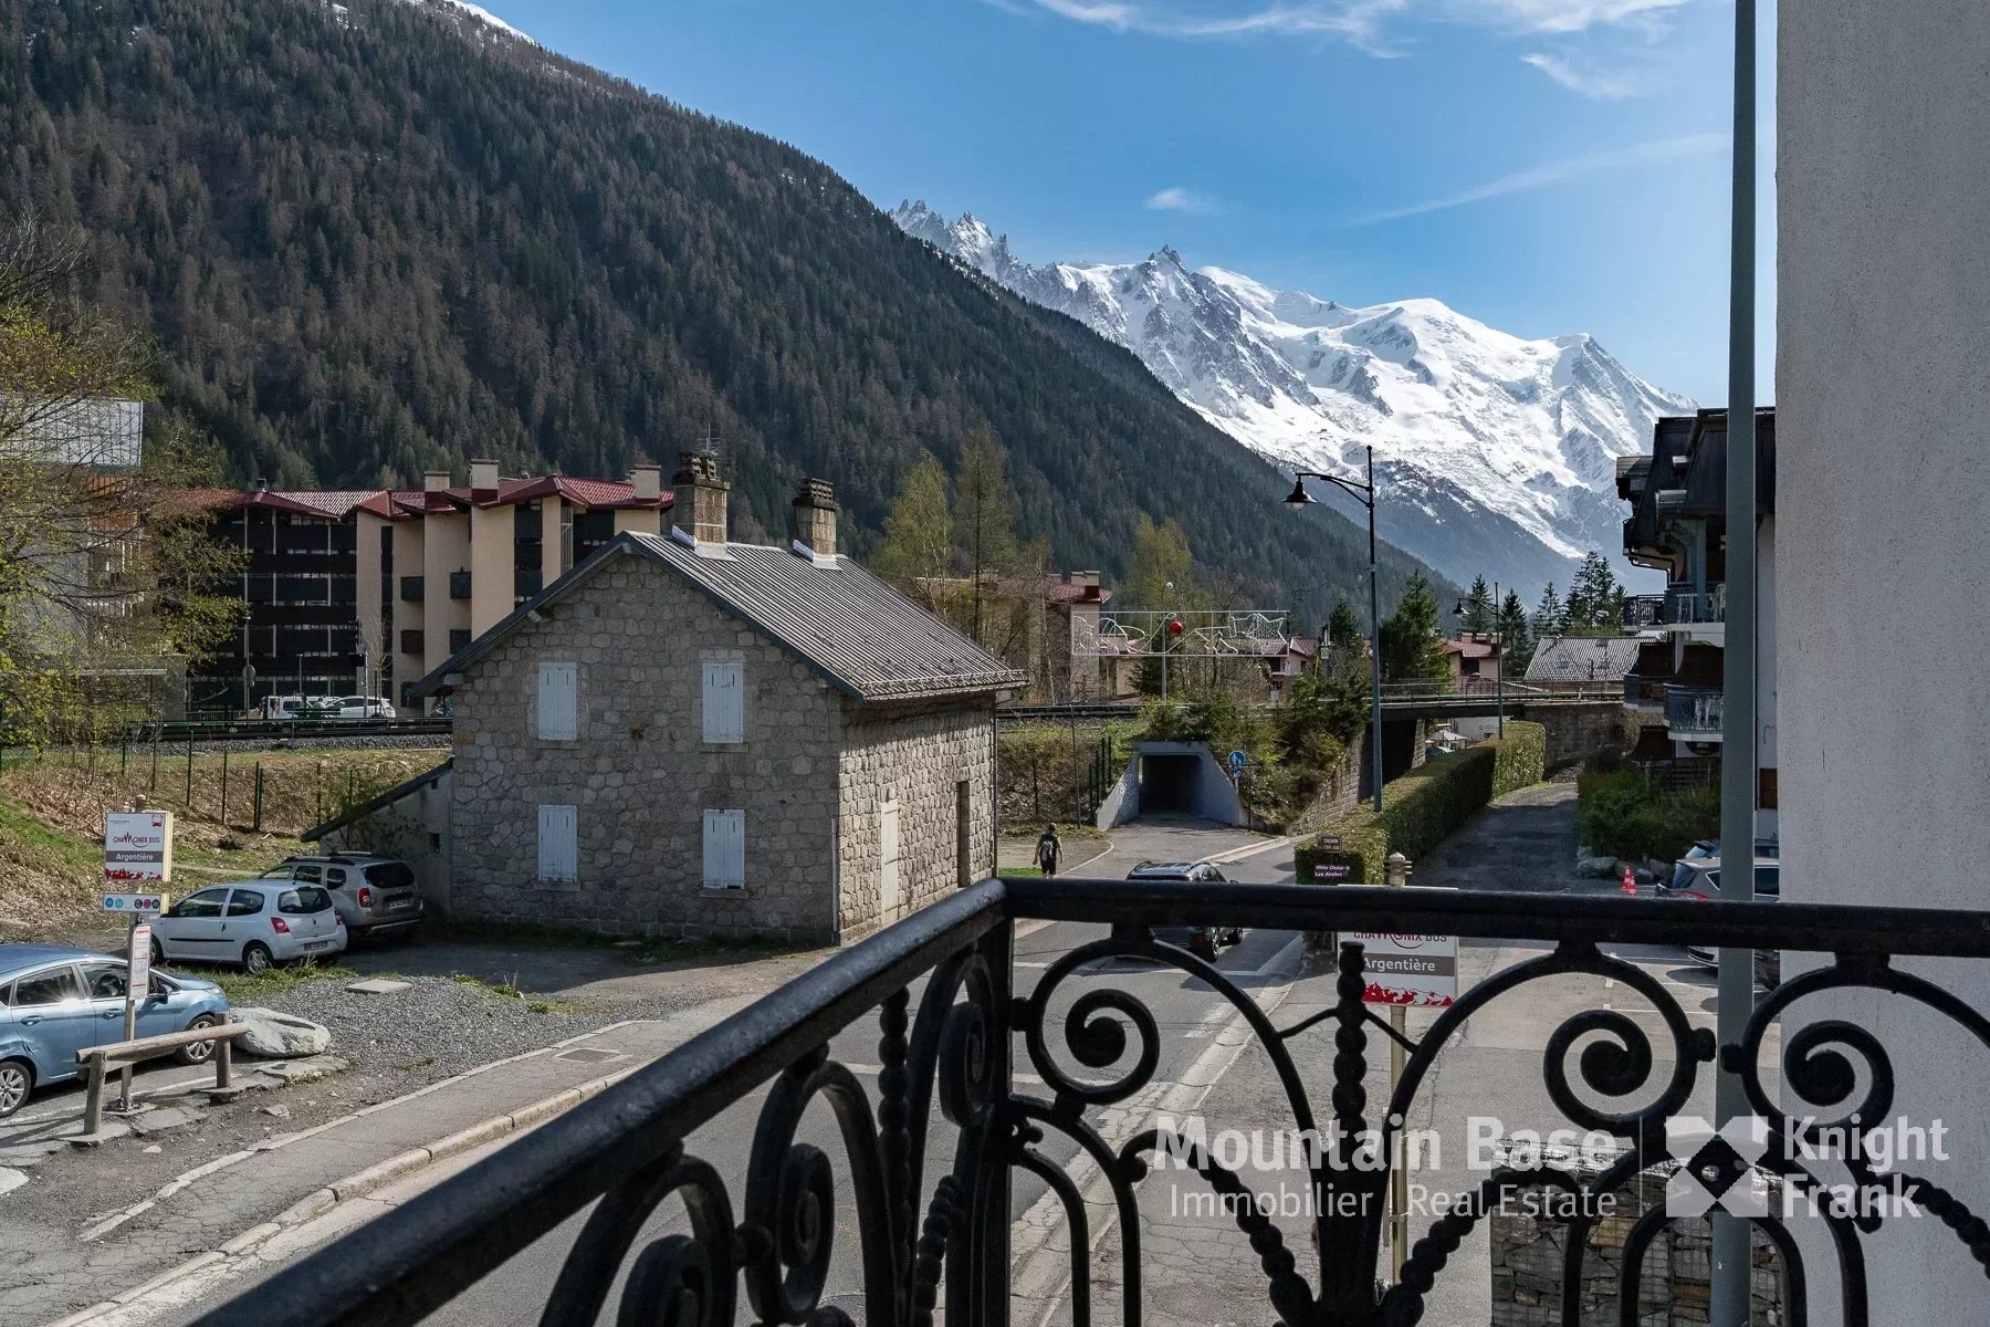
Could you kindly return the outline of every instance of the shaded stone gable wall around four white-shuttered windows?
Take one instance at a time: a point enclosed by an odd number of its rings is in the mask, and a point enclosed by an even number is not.
[[[714,655],[744,664],[740,744],[702,742]],[[575,742],[537,738],[541,663],[579,664]],[[663,567],[623,557],[456,688],[452,913],[832,941],[840,732],[842,696],[808,664]],[[541,804],[577,808],[575,881],[537,879]],[[744,889],[702,887],[706,808],[746,812]]]

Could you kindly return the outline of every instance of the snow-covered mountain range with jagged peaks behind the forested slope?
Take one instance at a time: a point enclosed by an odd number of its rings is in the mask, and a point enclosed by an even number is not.
[[[901,203],[892,219],[1126,346],[1282,466],[1355,477],[1373,446],[1383,537],[1461,585],[1566,585],[1588,549],[1628,571],[1616,458],[1646,450],[1658,416],[1693,410],[1586,334],[1522,340],[1433,298],[1349,308],[1218,267],[1190,271],[1174,249],[1144,263],[1033,265],[973,215]]]

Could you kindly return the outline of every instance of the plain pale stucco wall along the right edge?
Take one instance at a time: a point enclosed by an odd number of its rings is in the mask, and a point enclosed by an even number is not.
[[[1990,6],[1783,4],[1777,44],[1783,897],[1990,907],[1966,700],[1990,619]],[[1902,967],[1990,1009],[1986,963]],[[1952,1128],[1958,1160],[1920,1170],[1990,1212],[1990,1048],[1898,999],[1841,1011],[1885,1039],[1894,1110]],[[1873,1239],[1869,1271],[1873,1321],[1984,1321],[1982,1267],[1932,1218]]]

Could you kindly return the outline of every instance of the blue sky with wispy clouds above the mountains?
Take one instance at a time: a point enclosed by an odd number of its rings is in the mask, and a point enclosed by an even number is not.
[[[1731,0],[490,0],[533,38],[973,211],[1031,261],[1174,245],[1727,376]],[[1773,0],[1761,32],[1773,34]],[[1763,56],[1763,322],[1773,273]],[[1773,346],[1759,338],[1763,396]]]

